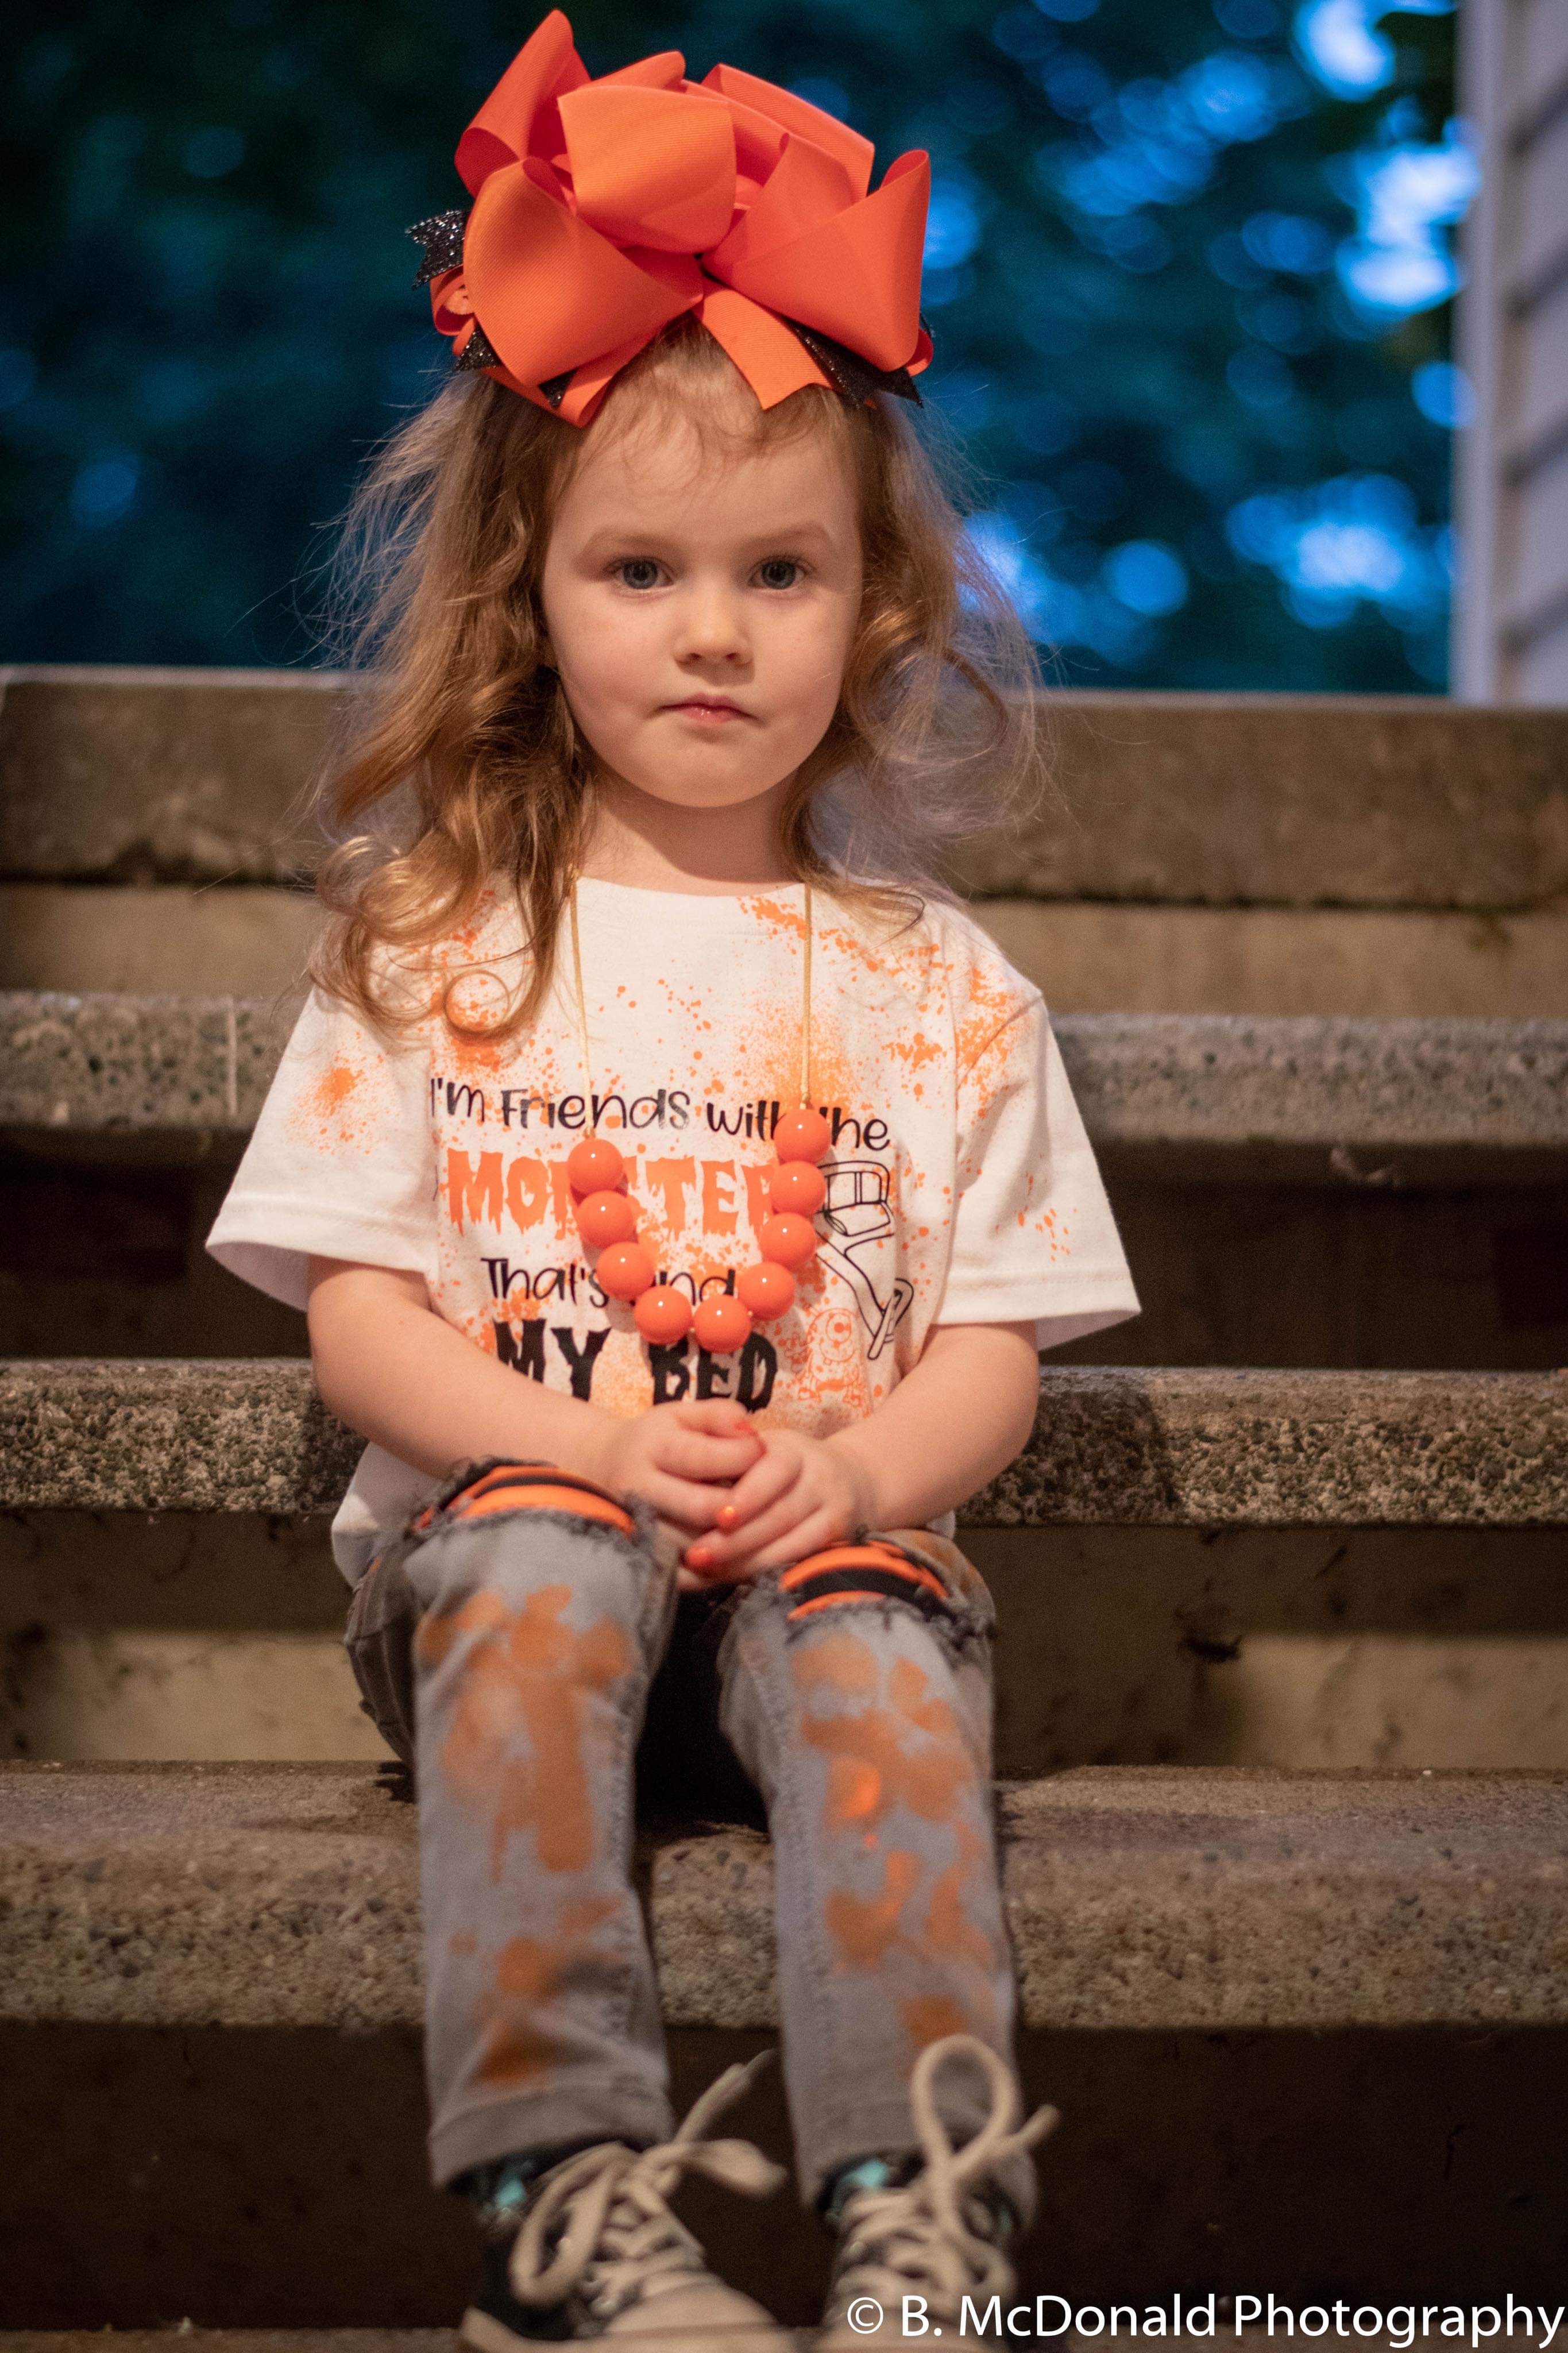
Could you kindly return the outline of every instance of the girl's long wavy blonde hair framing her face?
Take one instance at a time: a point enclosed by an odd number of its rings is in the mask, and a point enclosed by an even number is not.
[[[724,376],[729,358],[691,320],[623,369],[588,428],[456,376],[367,471],[341,551],[360,692],[315,791],[336,847],[317,873],[329,920],[310,976],[383,1031],[430,1009],[407,976],[496,887],[517,899],[529,969],[484,1035],[534,1021],[595,793],[592,748],[545,661],[550,520],[607,419],[672,412],[705,445],[733,440],[733,402],[715,398]],[[1030,795],[1039,671],[896,409],[809,386],[771,409],[748,402],[745,435],[750,447],[832,435],[860,501],[860,624],[832,725],[780,802],[778,854],[839,904],[907,922],[926,894],[952,899],[943,849]],[[435,1000],[468,1031],[451,979]]]

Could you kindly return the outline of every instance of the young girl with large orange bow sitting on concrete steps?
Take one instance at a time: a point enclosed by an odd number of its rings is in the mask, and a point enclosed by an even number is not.
[[[672,2129],[630,1878],[663,1704],[766,1800],[820,2341],[980,2341],[1053,2111],[1020,2125],[952,1506],[1037,1351],[1135,1297],[1039,991],[926,880],[1032,718],[898,407],[926,165],[870,193],[729,66],[590,82],[555,14],[458,169],[416,231],[458,379],[362,508],[353,838],[212,1249],[308,1306],[369,1440],[334,1548],[416,1769],[465,2339],[788,2341],[665,2205],[783,2177],[703,2139],[750,2068]]]

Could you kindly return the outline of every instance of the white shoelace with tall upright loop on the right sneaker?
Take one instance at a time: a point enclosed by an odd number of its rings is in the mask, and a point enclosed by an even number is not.
[[[954,2148],[936,2111],[936,2075],[959,2057],[987,2075],[992,2113],[973,2139]],[[842,2320],[856,2297],[872,2297],[886,2313],[898,2313],[900,2299],[914,2292],[926,2297],[929,2322],[957,2327],[964,2297],[983,2308],[990,2297],[1009,2297],[1016,2287],[1009,2259],[976,2228],[978,2200],[971,2198],[966,2212],[964,2193],[1006,2158],[1044,2141],[1060,2111],[1037,2108],[1020,2125],[1013,2073],[978,2035],[926,2042],[910,2075],[910,2106],[926,2162],[900,2188],[853,2191],[844,2200],[830,2320]]]

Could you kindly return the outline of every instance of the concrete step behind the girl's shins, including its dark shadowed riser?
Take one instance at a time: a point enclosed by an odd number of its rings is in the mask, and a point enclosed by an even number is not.
[[[1030,2289],[1556,2306],[1568,2031],[1535,2019],[1568,1981],[1561,1791],[1168,1767],[1009,1791],[1025,2019],[1081,2021],[1020,2035],[1027,2104],[1065,2118]],[[473,2238],[425,2174],[409,1817],[341,1767],[0,1777],[0,1993],[35,2012],[0,2019],[12,2329],[451,2325]],[[766,2017],[766,1845],[689,1833],[646,1864],[668,1995]],[[367,2014],[388,2024],[306,2024]],[[1434,2024],[1319,2024],[1375,2017]],[[675,2111],[771,2038],[672,2026]],[[788,2158],[776,2066],[733,2129]],[[792,2193],[696,2184],[682,2212],[790,2325],[820,2308]]]

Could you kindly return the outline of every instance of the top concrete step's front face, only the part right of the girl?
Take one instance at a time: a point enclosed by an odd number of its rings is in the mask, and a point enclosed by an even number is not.
[[[1552,906],[1568,713],[1361,694],[1051,696],[1041,814],[973,845],[990,896]]]

